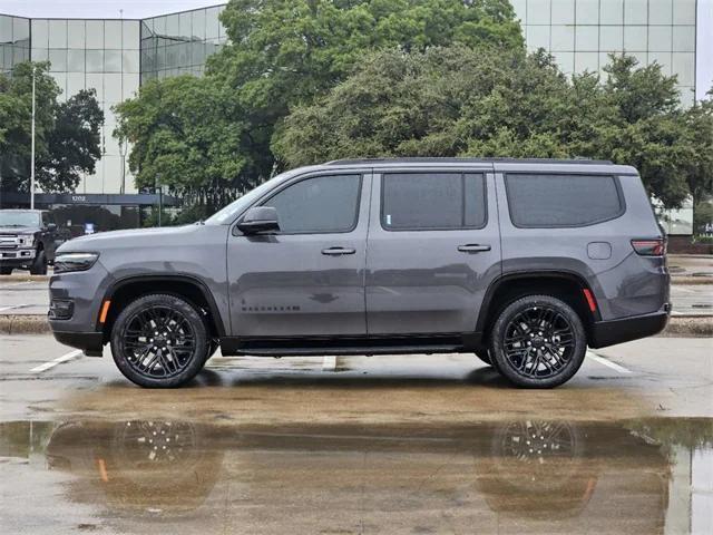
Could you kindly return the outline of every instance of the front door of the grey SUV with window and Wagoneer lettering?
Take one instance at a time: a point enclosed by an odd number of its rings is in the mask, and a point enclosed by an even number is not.
[[[280,232],[228,236],[234,337],[363,337],[371,175],[297,177],[265,202]]]

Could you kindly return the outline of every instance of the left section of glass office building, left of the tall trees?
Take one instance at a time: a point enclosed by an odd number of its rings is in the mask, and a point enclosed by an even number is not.
[[[0,16],[0,71],[21,61],[50,61],[60,100],[95,89],[105,115],[101,159],[84,176],[79,194],[136,193],[127,165],[130,147],[113,136],[111,107],[133,97],[153,78],[201,76],[206,58],[223,46],[218,16],[225,6],[195,9],[144,20],[27,19]]]

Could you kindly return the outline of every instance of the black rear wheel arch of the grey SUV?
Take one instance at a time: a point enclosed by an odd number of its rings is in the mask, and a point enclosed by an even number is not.
[[[592,325],[602,318],[598,305],[594,311],[590,310],[585,290],[594,296],[586,280],[572,271],[545,270],[506,273],[492,281],[486,290],[476,323],[476,332],[481,333],[481,340],[486,343],[490,329],[502,309],[524,295],[539,293],[555,296],[569,304],[582,319],[587,339],[590,339]]]

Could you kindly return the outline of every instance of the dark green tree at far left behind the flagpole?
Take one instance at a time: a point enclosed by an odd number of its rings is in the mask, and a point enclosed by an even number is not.
[[[36,179],[46,192],[74,191],[80,173],[92,173],[104,114],[94,90],[57,103],[60,89],[49,64],[22,62],[0,75],[0,187],[29,191],[32,68],[36,68]]]

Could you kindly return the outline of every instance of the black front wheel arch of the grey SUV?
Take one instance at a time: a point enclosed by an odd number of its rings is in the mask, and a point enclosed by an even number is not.
[[[104,333],[104,342],[109,340],[114,323],[124,307],[149,293],[165,293],[186,299],[204,312],[211,334],[216,338],[225,337],[225,323],[221,311],[211,290],[199,279],[184,274],[131,275],[113,283],[101,300],[101,303],[110,301],[105,322],[97,318],[97,330]]]

